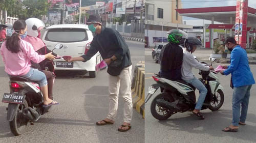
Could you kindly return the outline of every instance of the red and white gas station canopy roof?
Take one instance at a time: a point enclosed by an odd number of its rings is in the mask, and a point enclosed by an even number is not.
[[[236,6],[228,7],[208,7],[208,8],[190,8],[190,9],[176,9],[181,16],[212,20],[214,21],[234,24],[236,21]],[[232,17],[232,18],[230,18]],[[232,20],[232,23],[230,23]],[[256,23],[256,9],[248,7],[247,26],[255,27]]]

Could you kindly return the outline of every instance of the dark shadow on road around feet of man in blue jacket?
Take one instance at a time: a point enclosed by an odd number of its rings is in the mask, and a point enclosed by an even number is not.
[[[190,113],[190,116],[188,117],[168,119],[165,121],[159,121],[159,123],[164,126],[170,127],[169,129],[170,131],[177,130],[177,131],[185,131],[189,133],[210,134],[212,136],[217,136],[217,137],[224,137],[228,135],[237,139],[255,141],[255,138],[254,139],[248,138],[248,136],[245,135],[248,132],[251,134],[256,134],[255,126],[251,126],[251,125],[239,126],[239,134],[225,133],[221,131],[223,128],[228,127],[231,124],[232,110],[204,112],[203,115],[205,117],[205,120],[198,120],[198,118],[195,117],[193,113]],[[256,123],[256,117],[251,113],[248,113],[247,119],[248,119],[247,120],[248,122]],[[218,121],[221,121],[221,122],[218,122]],[[193,125],[193,128],[191,128],[191,125]]]

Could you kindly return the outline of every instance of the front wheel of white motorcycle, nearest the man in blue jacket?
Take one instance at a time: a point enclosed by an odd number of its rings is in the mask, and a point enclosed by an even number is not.
[[[214,98],[212,98],[212,101],[210,101],[209,109],[212,111],[218,110],[220,109],[223,103],[224,103],[224,93],[222,92],[222,90],[218,90]]]

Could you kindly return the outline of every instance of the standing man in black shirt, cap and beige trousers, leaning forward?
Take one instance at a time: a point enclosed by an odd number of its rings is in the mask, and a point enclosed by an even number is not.
[[[75,58],[67,60],[68,62],[82,61],[86,62],[92,58],[98,51],[105,63],[108,65],[109,76],[109,113],[106,118],[96,123],[96,125],[113,124],[116,118],[118,106],[118,92],[124,99],[124,118],[123,124],[118,131],[127,131],[131,128],[133,104],[132,104],[132,62],[128,45],[122,36],[112,28],[104,27],[99,15],[90,15],[87,24],[89,30],[95,33],[89,51]]]

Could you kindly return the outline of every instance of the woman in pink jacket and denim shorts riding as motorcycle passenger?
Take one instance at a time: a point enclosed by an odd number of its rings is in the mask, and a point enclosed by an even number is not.
[[[13,24],[14,33],[1,46],[1,54],[5,63],[5,72],[12,76],[22,76],[30,80],[38,81],[45,105],[57,105],[58,102],[48,97],[46,75],[31,68],[31,62],[40,63],[45,59],[54,60],[55,56],[50,53],[39,55],[32,45],[23,38],[27,35],[27,25],[24,20],[15,21]]]

